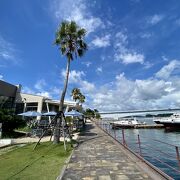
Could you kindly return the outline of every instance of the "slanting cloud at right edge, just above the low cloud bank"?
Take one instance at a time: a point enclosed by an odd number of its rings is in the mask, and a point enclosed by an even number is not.
[[[157,73],[156,77],[162,79],[168,79],[173,72],[180,73],[180,61],[179,60],[172,60],[168,65],[162,67]]]

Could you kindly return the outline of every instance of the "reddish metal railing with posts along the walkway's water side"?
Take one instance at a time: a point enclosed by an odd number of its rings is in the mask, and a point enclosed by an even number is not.
[[[136,141],[129,142],[128,135],[125,133],[125,129],[112,129],[110,123],[97,121],[96,124],[108,135],[113,137],[124,147],[132,150],[138,156],[150,161],[153,165],[160,168],[165,173],[172,177],[180,178],[180,154],[179,146],[149,137],[141,138],[140,134],[137,134]],[[152,142],[153,146],[148,142]],[[161,149],[161,145],[165,147]],[[160,147],[157,147],[160,146]],[[170,153],[165,152],[164,149],[171,148]],[[153,153],[152,153],[153,152]],[[168,162],[167,162],[168,159]]]

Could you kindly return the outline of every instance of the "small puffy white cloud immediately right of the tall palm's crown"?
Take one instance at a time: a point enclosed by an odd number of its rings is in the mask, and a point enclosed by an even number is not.
[[[106,35],[104,37],[96,37],[92,42],[91,42],[93,47],[108,47],[110,46],[110,35]]]

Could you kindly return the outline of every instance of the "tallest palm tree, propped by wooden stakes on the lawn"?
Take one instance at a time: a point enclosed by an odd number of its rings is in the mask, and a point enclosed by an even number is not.
[[[63,21],[56,32],[55,44],[59,47],[62,55],[67,57],[66,76],[64,81],[64,88],[60,98],[59,112],[63,111],[64,98],[66,95],[70,63],[77,57],[82,57],[87,50],[87,45],[84,42],[86,30],[80,28],[76,22]],[[54,143],[59,143],[60,137],[60,118],[55,120]]]

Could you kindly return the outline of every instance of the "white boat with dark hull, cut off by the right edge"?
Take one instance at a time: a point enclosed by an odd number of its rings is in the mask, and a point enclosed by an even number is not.
[[[165,128],[180,129],[180,114],[174,113],[170,117],[155,118],[153,120],[156,124],[163,124]]]

